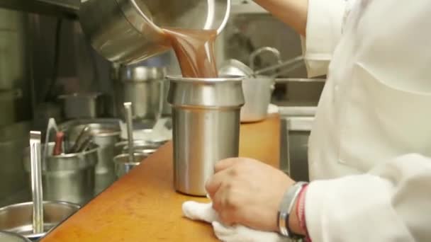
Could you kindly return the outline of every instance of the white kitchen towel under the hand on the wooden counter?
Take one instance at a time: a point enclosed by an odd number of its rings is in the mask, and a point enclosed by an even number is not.
[[[290,241],[274,232],[257,231],[246,226],[225,226],[220,223],[212,203],[184,202],[183,214],[192,220],[206,221],[213,225],[214,234],[225,242],[286,242]]]

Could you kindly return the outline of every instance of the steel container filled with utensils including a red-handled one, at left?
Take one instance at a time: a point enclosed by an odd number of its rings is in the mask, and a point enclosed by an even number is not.
[[[43,145],[44,146],[44,145]],[[42,149],[43,149],[42,146]],[[48,146],[52,154],[54,144]],[[98,147],[77,154],[48,156],[42,163],[44,200],[85,204],[94,197],[94,170]],[[30,152],[24,153],[24,168],[30,174]],[[29,175],[30,176],[30,175]]]

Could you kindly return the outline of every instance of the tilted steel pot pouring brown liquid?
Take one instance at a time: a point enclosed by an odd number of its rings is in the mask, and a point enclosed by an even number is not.
[[[230,0],[86,0],[79,20],[94,49],[111,62],[130,64],[169,49],[162,27],[225,27]]]

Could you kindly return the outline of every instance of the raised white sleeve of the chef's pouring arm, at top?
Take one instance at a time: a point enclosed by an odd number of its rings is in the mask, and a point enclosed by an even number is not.
[[[323,76],[328,71],[342,34],[343,19],[349,4],[345,0],[309,0],[306,38],[301,38],[308,76]]]

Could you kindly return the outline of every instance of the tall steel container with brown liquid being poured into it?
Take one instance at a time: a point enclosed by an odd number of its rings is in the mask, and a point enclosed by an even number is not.
[[[206,180],[221,159],[238,156],[242,78],[169,76],[174,141],[174,187],[206,195]]]

